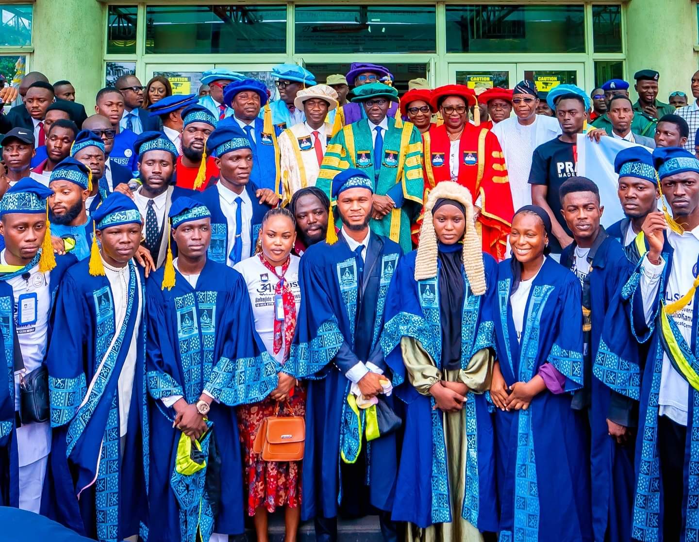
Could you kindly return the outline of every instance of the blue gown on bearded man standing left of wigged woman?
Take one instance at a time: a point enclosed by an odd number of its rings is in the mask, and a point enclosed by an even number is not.
[[[359,284],[354,252],[340,233],[329,245],[309,247],[301,258],[301,308],[296,337],[284,372],[308,381],[306,440],[303,455],[301,518],[335,518],[343,495],[368,485],[368,503],[382,511],[393,506],[396,483],[396,433],[361,443],[356,416],[347,404],[350,381],[345,373],[358,360],[388,371],[379,344],[384,302],[401,248],[371,233],[363,281]],[[390,376],[389,376],[390,378]],[[384,397],[384,396],[382,396]],[[394,397],[385,397],[395,409]],[[345,457],[359,452],[366,472],[344,480],[340,451]],[[361,463],[361,462],[360,462]],[[356,465],[345,465],[355,467]],[[347,502],[352,506],[366,502]]]

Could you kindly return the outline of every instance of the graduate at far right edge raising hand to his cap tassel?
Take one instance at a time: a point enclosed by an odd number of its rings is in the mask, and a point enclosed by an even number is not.
[[[648,355],[637,364],[612,343],[600,361],[626,380],[640,374],[632,537],[690,541],[699,532],[699,160],[679,147],[655,149],[653,158],[672,216],[646,217],[649,250],[621,291]]]

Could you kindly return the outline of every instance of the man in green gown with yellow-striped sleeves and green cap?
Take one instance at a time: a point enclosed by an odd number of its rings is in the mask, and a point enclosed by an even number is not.
[[[383,83],[354,89],[366,119],[348,124],[330,140],[316,183],[330,196],[333,178],[347,168],[358,168],[373,182],[370,227],[378,235],[412,249],[410,224],[422,205],[422,139],[410,122],[388,117],[398,91]]]

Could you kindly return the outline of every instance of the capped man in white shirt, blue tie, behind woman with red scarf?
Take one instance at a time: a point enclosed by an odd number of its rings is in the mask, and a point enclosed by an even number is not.
[[[253,168],[250,141],[237,125],[219,126],[206,140],[206,153],[215,156],[219,182],[193,196],[211,213],[208,257],[233,267],[254,253],[262,218],[277,205],[274,191],[250,181]]]

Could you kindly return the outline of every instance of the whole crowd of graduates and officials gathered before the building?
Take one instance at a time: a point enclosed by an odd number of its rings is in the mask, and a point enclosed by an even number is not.
[[[101,542],[693,540],[699,72],[272,76],[0,91],[0,504]]]

